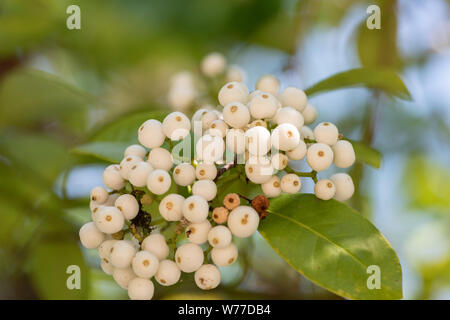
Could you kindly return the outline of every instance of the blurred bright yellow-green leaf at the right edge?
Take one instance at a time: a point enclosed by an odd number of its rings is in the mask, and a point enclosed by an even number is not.
[[[450,170],[431,159],[411,157],[404,181],[410,204],[427,212],[450,212]]]

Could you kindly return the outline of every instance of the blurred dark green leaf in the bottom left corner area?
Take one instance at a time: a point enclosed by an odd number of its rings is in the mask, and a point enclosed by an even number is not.
[[[66,286],[67,267],[80,267],[81,288],[69,290]],[[33,285],[43,299],[85,299],[88,294],[89,269],[79,246],[73,242],[44,242],[35,246],[30,256],[30,275]]]

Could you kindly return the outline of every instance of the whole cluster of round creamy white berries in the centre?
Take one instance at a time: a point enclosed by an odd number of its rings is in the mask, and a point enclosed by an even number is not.
[[[211,77],[224,68],[216,54],[202,63]],[[151,299],[151,278],[170,286],[181,271],[195,272],[201,289],[217,287],[217,266],[229,266],[238,257],[233,237],[255,233],[268,214],[268,198],[299,192],[300,177],[313,179],[319,199],[343,201],[353,195],[348,174],[317,179],[333,163],[351,166],[352,144],[330,122],[314,130],[305,125],[315,121],[317,111],[302,90],[279,91],[271,75],[259,79],[251,93],[240,81],[228,82],[218,93],[222,111],[201,108],[192,119],[175,111],[162,122],[147,120],[138,129],[141,145],[129,146],[120,164],[105,169],[103,181],[112,191],[91,191],[92,222],[81,228],[80,239],[86,248],[98,248],[103,271],[131,299]],[[311,172],[289,166],[304,158]],[[260,185],[262,194],[254,199],[227,194],[218,206],[220,182],[230,170],[242,183]],[[151,203],[157,204],[154,211],[148,209]]]

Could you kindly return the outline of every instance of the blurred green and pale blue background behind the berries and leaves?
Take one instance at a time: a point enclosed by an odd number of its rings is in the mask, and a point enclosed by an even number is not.
[[[81,30],[66,8],[81,8]],[[370,4],[381,30],[368,30]],[[196,72],[210,51],[244,68],[250,88],[272,73],[306,88],[360,66],[389,68],[411,101],[364,88],[311,99],[319,121],[383,154],[358,163],[351,205],[399,255],[406,299],[450,298],[450,1],[2,0],[0,2],[0,298],[127,298],[82,249],[89,190],[106,162],[77,147],[126,142],[154,109],[168,109],[170,77]],[[308,190],[311,186],[306,185]],[[259,237],[223,285],[192,279],[157,298],[339,299],[292,270]],[[66,267],[82,269],[67,290]]]

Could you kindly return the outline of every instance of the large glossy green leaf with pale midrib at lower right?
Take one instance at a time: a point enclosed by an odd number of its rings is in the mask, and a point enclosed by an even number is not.
[[[349,299],[400,299],[402,272],[395,251],[361,214],[312,194],[271,200],[259,231],[294,269]],[[379,266],[381,288],[368,289],[367,268]]]

